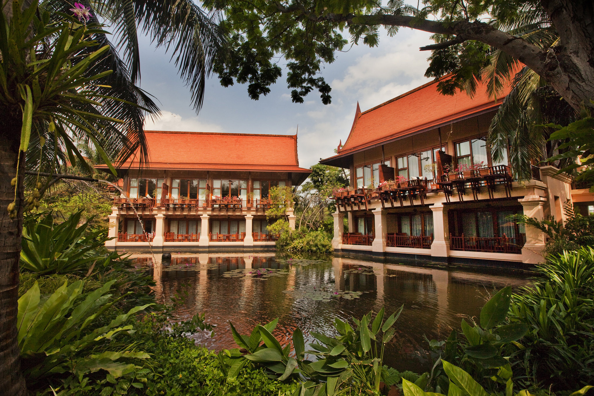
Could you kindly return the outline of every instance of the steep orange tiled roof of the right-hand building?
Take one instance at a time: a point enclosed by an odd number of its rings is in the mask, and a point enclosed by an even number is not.
[[[467,96],[465,92],[446,96],[437,91],[437,83],[431,81],[421,85],[365,112],[359,110],[357,103],[355,122],[349,137],[333,157],[342,157],[371,145],[397,140],[492,109],[499,106],[509,92],[509,87],[505,87],[497,99],[493,99],[486,93],[486,85],[479,84],[473,97]]]

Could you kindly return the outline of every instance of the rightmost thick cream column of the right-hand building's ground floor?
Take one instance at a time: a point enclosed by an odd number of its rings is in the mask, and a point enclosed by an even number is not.
[[[543,220],[544,205],[546,198],[539,195],[526,195],[524,198],[518,199],[522,204],[524,214],[528,217],[536,218],[536,220]],[[544,261],[542,250],[545,248],[546,236],[545,233],[534,227],[526,226],[526,243],[522,248],[522,262],[527,264],[538,264]]]

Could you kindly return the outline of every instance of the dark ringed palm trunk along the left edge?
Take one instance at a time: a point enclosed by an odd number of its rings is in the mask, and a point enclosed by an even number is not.
[[[23,176],[25,154],[19,162],[17,217],[7,207],[14,200],[11,180],[17,174],[21,119],[0,116],[0,394],[26,395],[17,342],[18,259],[23,232]]]

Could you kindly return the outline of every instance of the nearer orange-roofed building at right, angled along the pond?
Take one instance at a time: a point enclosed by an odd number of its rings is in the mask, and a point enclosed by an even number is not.
[[[517,182],[507,151],[493,158],[486,134],[506,93],[494,100],[479,85],[473,97],[444,96],[434,81],[365,112],[357,104],[345,144],[320,161],[350,170],[352,187],[335,195],[334,249],[461,264],[541,262],[544,233],[508,216],[565,221],[572,194],[586,210],[594,195],[538,161],[532,179]]]

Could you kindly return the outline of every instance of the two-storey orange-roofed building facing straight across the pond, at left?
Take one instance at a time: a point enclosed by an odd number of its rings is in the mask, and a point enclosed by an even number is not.
[[[271,189],[296,188],[296,135],[145,131],[149,161],[118,167],[106,246],[119,251],[251,252],[274,248]],[[98,169],[108,170],[106,165]],[[293,208],[285,216],[295,227]]]

